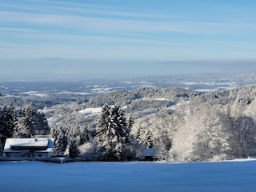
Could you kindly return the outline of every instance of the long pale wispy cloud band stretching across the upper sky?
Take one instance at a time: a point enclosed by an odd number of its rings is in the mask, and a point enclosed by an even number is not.
[[[12,11],[0,12],[0,22],[23,23],[44,27],[63,27],[70,30],[89,30],[106,33],[181,33],[181,34],[237,34],[255,28],[243,22],[200,22],[96,18],[62,14],[30,14]]]

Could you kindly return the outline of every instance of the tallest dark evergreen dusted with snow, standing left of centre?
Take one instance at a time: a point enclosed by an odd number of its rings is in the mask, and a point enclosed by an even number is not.
[[[129,133],[121,107],[103,106],[97,127],[99,160],[124,160]]]

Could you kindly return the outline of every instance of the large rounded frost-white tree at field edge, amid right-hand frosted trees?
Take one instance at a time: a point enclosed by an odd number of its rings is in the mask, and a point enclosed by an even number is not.
[[[194,159],[223,160],[230,156],[229,127],[225,114],[218,110],[204,110],[198,114],[199,133],[194,141]],[[197,159],[198,158],[198,159]]]

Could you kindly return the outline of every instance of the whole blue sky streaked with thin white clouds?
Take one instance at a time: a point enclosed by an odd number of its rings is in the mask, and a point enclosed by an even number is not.
[[[255,10],[253,0],[2,0],[0,75],[118,78],[251,70]]]

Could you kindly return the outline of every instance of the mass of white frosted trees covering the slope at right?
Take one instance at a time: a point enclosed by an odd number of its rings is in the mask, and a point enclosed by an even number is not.
[[[210,161],[256,156],[256,86],[201,94],[172,113],[140,118],[139,129],[167,130],[172,161]]]

